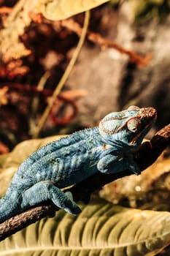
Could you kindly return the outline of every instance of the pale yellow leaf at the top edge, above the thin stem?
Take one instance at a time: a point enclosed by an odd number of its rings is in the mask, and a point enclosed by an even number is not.
[[[42,6],[42,14],[50,20],[63,20],[85,12],[109,0],[53,0]]]

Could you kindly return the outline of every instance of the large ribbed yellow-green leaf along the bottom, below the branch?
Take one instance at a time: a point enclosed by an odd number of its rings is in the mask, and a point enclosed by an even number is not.
[[[0,256],[156,255],[170,243],[169,212],[113,206],[96,198],[78,217],[58,211],[0,243]]]

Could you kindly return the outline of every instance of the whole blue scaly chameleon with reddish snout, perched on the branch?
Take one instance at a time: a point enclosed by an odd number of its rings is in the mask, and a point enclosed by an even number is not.
[[[32,206],[51,200],[70,214],[81,209],[64,187],[94,173],[141,170],[134,162],[137,148],[155,122],[155,108],[130,106],[107,114],[98,127],[74,132],[42,146],[21,163],[6,194],[0,200],[0,223]]]

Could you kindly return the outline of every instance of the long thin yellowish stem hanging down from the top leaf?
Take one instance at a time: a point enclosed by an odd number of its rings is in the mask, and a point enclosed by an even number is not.
[[[75,61],[77,60],[77,57],[79,56],[79,53],[80,53],[80,50],[82,48],[83,42],[85,41],[85,35],[88,31],[89,19],[90,19],[90,12],[86,11],[85,12],[85,21],[84,21],[84,25],[83,25],[83,28],[82,28],[82,33],[81,33],[81,36],[80,36],[80,40],[77,44],[77,48],[74,51],[72,59],[70,60],[69,65],[66,67],[66,71],[64,72],[60,82],[56,86],[56,89],[53,93],[52,98],[48,102],[48,105],[47,105],[47,108],[45,109],[45,112],[42,114],[42,117],[39,120],[39,124],[38,124],[36,132],[34,133],[34,136],[33,136],[34,138],[37,138],[39,136],[39,133],[41,132],[42,127],[44,126],[45,121],[47,120],[47,116],[49,115],[50,110],[53,107],[55,99],[56,99],[56,97],[58,97],[58,94],[61,92],[61,89],[63,88],[64,83],[66,83],[66,80],[69,77],[70,72],[72,71],[72,68],[75,64]]]

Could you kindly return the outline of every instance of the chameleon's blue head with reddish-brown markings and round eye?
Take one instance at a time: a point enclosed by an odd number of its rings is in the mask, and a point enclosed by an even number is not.
[[[130,106],[105,116],[99,123],[99,132],[109,145],[139,146],[156,118],[155,108]]]

